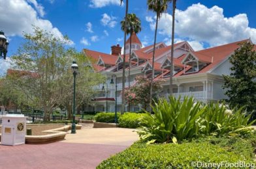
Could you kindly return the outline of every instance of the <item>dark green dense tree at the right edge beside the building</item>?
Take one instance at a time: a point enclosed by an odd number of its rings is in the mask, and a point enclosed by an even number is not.
[[[223,75],[231,107],[245,106],[249,112],[256,109],[256,52],[251,42],[240,44],[229,61],[232,64],[231,75]],[[255,118],[255,114],[254,114]]]

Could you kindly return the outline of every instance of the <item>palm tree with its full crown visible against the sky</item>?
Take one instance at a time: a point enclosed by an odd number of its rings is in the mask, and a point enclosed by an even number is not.
[[[140,19],[136,16],[136,14],[127,14],[127,28],[126,28],[126,33],[130,34],[130,52],[129,52],[129,73],[128,73],[128,86],[130,88],[130,70],[131,70],[131,36],[133,33],[137,34],[138,32],[141,31],[141,21]],[[125,29],[125,19],[121,21],[121,30],[124,31]],[[128,111],[130,111],[130,105],[128,107]]]

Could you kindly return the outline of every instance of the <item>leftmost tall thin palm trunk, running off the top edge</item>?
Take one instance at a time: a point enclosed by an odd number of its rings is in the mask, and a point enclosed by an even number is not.
[[[125,36],[123,42],[123,77],[122,77],[122,92],[121,92],[121,114],[125,111],[125,42],[126,42],[126,32],[127,32],[127,13],[128,13],[128,0],[126,0],[125,8]]]

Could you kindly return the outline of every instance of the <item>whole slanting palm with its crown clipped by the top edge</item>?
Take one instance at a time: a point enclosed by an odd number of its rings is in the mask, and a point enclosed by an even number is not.
[[[150,81],[150,105],[152,105],[152,95],[153,95],[152,83],[153,83],[153,79],[155,78],[155,71],[154,71],[155,43],[156,43],[156,39],[157,39],[158,20],[161,17],[161,15],[163,14],[163,12],[165,12],[167,10],[168,2],[170,2],[170,1],[171,0],[148,0],[148,2],[147,2],[148,9],[153,10],[153,12],[157,13],[157,19],[156,19],[156,23],[155,23],[155,39],[154,39],[154,42],[153,42],[152,78],[151,78],[151,81]],[[150,112],[151,111],[152,111],[152,109],[150,107]]]

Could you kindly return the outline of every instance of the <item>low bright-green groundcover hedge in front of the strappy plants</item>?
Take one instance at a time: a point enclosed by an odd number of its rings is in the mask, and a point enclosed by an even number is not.
[[[193,162],[197,161],[254,164],[253,142],[255,138],[202,138],[182,144],[147,145],[136,142],[101,162],[97,168],[195,168]]]

